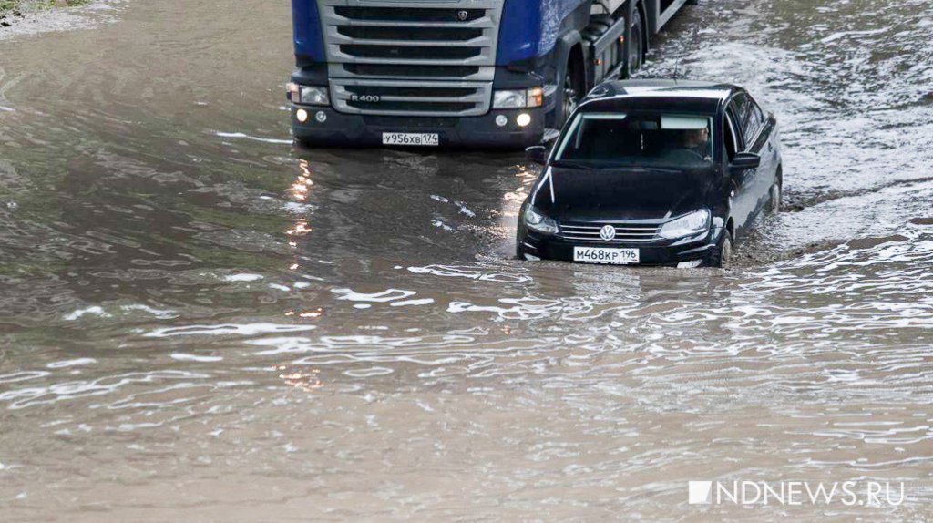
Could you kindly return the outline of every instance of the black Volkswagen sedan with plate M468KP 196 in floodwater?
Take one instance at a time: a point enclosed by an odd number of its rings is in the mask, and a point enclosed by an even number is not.
[[[781,202],[777,122],[745,89],[607,82],[579,104],[522,204],[528,260],[722,267]]]

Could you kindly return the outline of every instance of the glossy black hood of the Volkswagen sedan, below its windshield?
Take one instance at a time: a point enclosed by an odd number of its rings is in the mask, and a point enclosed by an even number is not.
[[[712,169],[661,172],[550,168],[537,188],[533,204],[564,222],[658,220],[710,207],[714,188]]]

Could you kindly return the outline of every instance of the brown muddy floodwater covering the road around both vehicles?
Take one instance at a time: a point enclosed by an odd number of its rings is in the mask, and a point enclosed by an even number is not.
[[[664,34],[784,128],[725,271],[512,260],[521,155],[292,148],[284,0],[117,7],[0,34],[0,520],[933,518],[930,2]]]

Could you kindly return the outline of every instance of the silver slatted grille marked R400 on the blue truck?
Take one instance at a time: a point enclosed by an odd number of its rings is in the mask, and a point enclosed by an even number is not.
[[[338,111],[413,117],[489,111],[504,0],[318,3]]]

